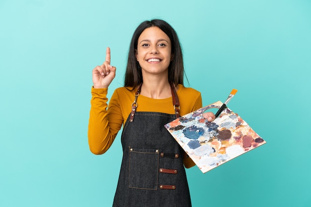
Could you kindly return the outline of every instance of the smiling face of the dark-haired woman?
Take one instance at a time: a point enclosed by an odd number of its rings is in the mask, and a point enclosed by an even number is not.
[[[169,37],[158,27],[145,29],[138,38],[136,59],[142,74],[167,74],[172,60]]]

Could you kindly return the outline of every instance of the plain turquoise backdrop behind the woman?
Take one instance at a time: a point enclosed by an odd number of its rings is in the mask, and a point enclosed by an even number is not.
[[[310,206],[310,0],[1,0],[0,206],[112,205],[121,133],[89,152],[91,70],[109,46],[110,97],[152,18],[177,31],[203,105],[238,89],[229,107],[267,141],[206,174],[188,169],[193,206]]]

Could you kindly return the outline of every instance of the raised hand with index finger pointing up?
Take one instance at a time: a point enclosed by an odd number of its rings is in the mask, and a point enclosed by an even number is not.
[[[116,76],[116,67],[110,65],[110,48],[106,50],[106,61],[102,65],[97,65],[93,71],[93,87],[108,88]]]

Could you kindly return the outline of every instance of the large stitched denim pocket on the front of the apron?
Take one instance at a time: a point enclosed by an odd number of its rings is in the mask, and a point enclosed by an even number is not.
[[[129,149],[129,188],[157,190],[159,150]]]

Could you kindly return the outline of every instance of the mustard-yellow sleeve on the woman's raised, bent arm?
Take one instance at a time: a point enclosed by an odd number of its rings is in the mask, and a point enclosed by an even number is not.
[[[91,94],[91,109],[88,121],[88,145],[95,155],[104,154],[112,145],[121,129],[123,116],[114,92],[107,110],[108,89],[94,89]]]

